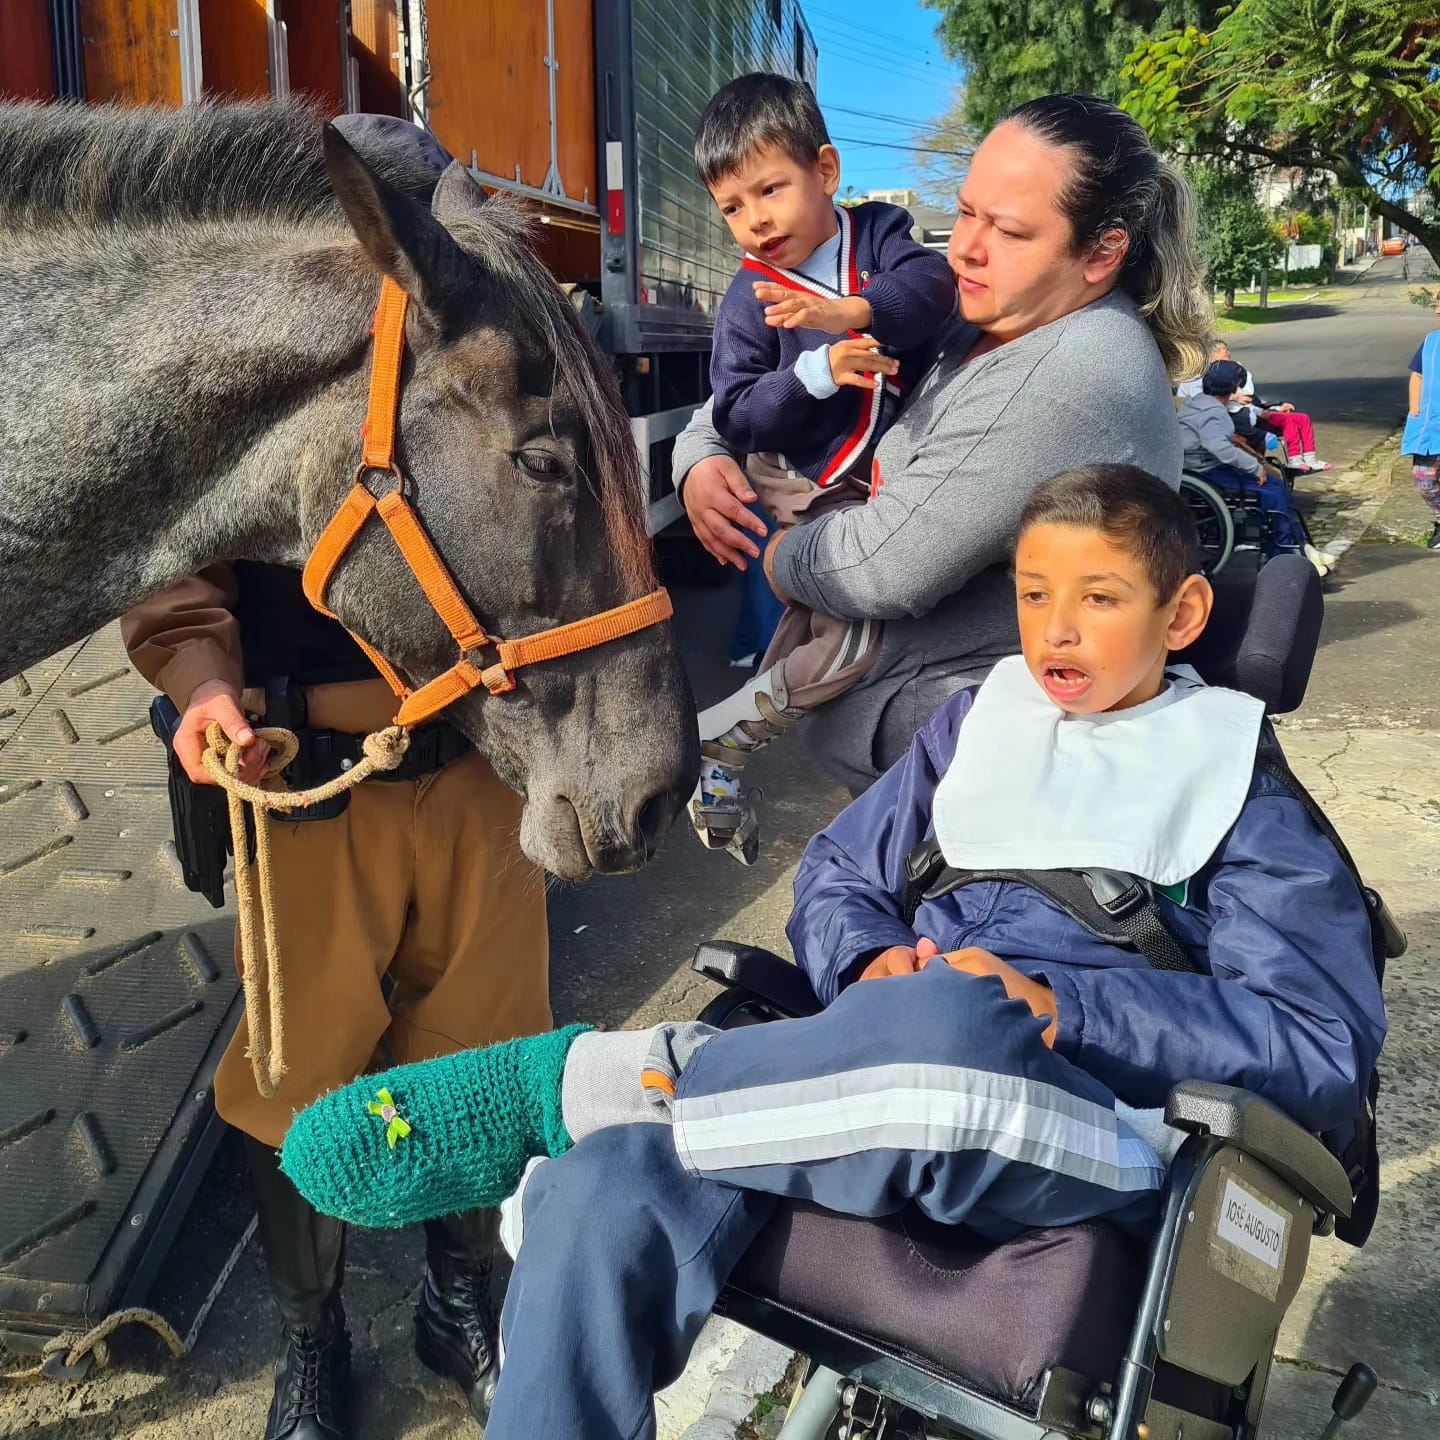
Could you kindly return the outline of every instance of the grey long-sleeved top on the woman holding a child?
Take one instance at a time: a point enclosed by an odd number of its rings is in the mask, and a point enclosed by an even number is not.
[[[880,494],[776,546],[776,585],[796,602],[887,622],[870,674],[805,720],[821,762],[855,791],[949,696],[1020,649],[1009,547],[1037,481],[1129,461],[1179,484],[1169,380],[1128,297],[1106,295],[966,363],[978,337],[960,320],[940,331],[935,363],[876,452]],[[723,454],[706,408],[675,441],[677,484]]]

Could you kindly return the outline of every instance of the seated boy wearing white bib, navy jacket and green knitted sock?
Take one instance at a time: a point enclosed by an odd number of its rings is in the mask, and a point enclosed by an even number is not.
[[[789,937],[818,1015],[570,1027],[300,1115],[287,1174],[361,1224],[492,1204],[527,1156],[560,1156],[523,1198],[490,1440],[652,1436],[652,1391],[776,1197],[914,1204],[995,1241],[1102,1215],[1145,1228],[1181,1139],[1158,1107],[1182,1080],[1244,1086],[1344,1143],[1385,1030],[1365,901],[1256,766],[1260,703],[1168,668],[1210,615],[1197,569],[1184,503],[1145,472],[1037,488],[1015,552],[1024,655],[942,707],[801,863]],[[906,857],[930,835],[953,865],[1143,877],[1194,973],[1015,883],[907,920]],[[409,1133],[387,1142],[389,1117]]]

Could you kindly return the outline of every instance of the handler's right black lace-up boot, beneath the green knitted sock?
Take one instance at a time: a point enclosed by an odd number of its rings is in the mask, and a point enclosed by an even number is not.
[[[500,1322],[491,1257],[500,1212],[472,1210],[425,1223],[425,1284],[415,1306],[415,1354],[465,1392],[484,1424],[500,1380]]]

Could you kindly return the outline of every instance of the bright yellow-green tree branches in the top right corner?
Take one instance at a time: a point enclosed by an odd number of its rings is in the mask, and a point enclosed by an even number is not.
[[[1240,0],[1136,45],[1122,104],[1161,143],[1328,173],[1440,259],[1436,0]],[[1410,200],[1405,199],[1410,196]]]

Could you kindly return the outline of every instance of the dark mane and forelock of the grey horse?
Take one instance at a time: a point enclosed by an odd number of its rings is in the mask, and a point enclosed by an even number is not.
[[[325,174],[323,112],[304,102],[251,101],[179,109],[0,104],[0,233],[144,230],[187,222],[344,225]],[[384,180],[415,190],[408,157],[367,157]],[[644,474],[611,361],[536,253],[528,207],[491,196],[456,239],[524,295],[554,376],[585,416],[616,569],[636,593],[654,586]]]

